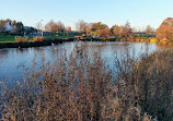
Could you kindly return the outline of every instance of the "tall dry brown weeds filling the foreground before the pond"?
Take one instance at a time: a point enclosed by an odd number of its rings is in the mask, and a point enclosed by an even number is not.
[[[173,51],[115,58],[109,69],[100,53],[76,47],[54,65],[33,68],[23,83],[2,85],[0,118],[11,120],[159,121],[173,120]],[[115,73],[116,72],[116,73]]]

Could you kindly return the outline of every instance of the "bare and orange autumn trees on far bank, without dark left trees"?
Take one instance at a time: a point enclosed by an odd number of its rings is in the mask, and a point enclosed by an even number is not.
[[[125,25],[113,25],[111,28],[108,25],[96,22],[88,23],[83,20],[80,20],[76,23],[76,28],[79,33],[85,34],[86,36],[99,36],[102,38],[107,38],[112,35],[116,37],[130,37],[131,34],[135,34],[135,28],[131,27],[130,23],[127,21]],[[50,20],[45,25],[46,32],[51,33],[64,33],[71,31],[71,27],[65,27],[62,22],[55,22]],[[151,25],[147,25],[143,31],[139,31],[138,34],[145,34],[147,36],[155,35],[158,39],[166,38],[169,40],[173,39],[173,17],[165,19],[162,24],[154,31]]]

